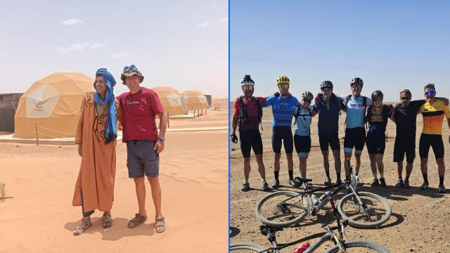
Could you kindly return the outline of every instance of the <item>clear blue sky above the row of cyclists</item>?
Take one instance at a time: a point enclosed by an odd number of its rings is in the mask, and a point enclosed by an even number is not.
[[[450,97],[450,1],[231,0],[230,11],[231,100],[244,74],[256,96],[274,93],[285,74],[297,97],[323,80],[348,94],[352,77],[385,101],[401,89],[423,99],[429,82]]]

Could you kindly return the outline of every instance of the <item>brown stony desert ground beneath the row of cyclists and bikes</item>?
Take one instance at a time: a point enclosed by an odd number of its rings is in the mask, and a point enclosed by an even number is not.
[[[344,120],[345,113],[340,118],[340,139],[341,139],[341,159],[343,161],[343,136],[344,136]],[[274,157],[271,149],[271,110],[264,109],[262,131],[264,145],[264,164],[266,166],[266,177],[269,185],[274,180],[273,164]],[[387,125],[388,141],[385,151],[385,178],[387,188],[371,188],[372,174],[370,162],[366,148],[364,148],[361,157],[360,176],[364,186],[359,190],[377,193],[386,197],[392,205],[392,216],[383,226],[377,229],[361,230],[347,227],[348,240],[370,240],[384,245],[391,252],[450,252],[450,242],[448,235],[450,234],[450,194],[447,190],[446,194],[437,193],[439,178],[437,175],[437,165],[435,158],[430,150],[430,161],[428,168],[428,181],[430,188],[428,190],[420,190],[420,184],[423,183],[422,174],[420,173],[420,159],[418,158],[418,141],[420,132],[422,131],[422,116],[418,115],[417,120],[417,136],[416,136],[416,160],[414,162],[413,173],[411,174],[411,189],[394,188],[397,183],[397,164],[392,162],[395,124],[389,122]],[[446,149],[445,163],[446,174],[445,185],[450,188],[449,181],[449,127],[444,119],[443,126],[444,146]],[[314,186],[323,186],[325,173],[323,171],[322,157],[319,148],[319,138],[317,136],[317,117],[313,119],[311,125],[312,148],[309,154],[307,165],[307,176],[313,179]],[[282,151],[283,153],[284,151]],[[253,156],[253,155],[252,155]],[[331,157],[333,157],[331,155]],[[354,160],[352,160],[352,164]],[[406,164],[406,162],[405,162]],[[335,181],[334,160],[330,160],[330,174]],[[343,168],[343,167],[342,167]],[[294,156],[295,176],[300,176],[299,161]],[[405,172],[404,172],[405,175]],[[280,190],[294,190],[288,185],[288,168],[285,155],[281,156],[281,185]],[[231,221],[230,226],[238,228],[235,232],[238,234],[231,238],[231,243],[236,242],[255,242],[259,245],[270,247],[270,243],[264,235],[259,233],[260,223],[255,216],[255,205],[267,193],[264,193],[262,183],[259,179],[257,166],[254,157],[252,158],[252,171],[250,172],[250,186],[253,190],[247,193],[240,191],[243,183],[243,158],[241,157],[238,144],[231,143]],[[337,200],[342,197],[338,195]],[[324,231],[326,226],[335,226],[335,220],[330,213],[330,206],[319,212],[318,216],[309,216],[309,218],[300,225],[285,228],[284,231],[278,232],[278,242],[292,242],[294,240],[306,237],[313,233]],[[234,234],[233,234],[234,235]],[[311,241],[311,243],[314,242]],[[298,245],[297,245],[298,246]],[[322,246],[325,249],[328,246]],[[293,248],[285,249],[285,252],[293,252]],[[320,250],[318,252],[321,252]]]

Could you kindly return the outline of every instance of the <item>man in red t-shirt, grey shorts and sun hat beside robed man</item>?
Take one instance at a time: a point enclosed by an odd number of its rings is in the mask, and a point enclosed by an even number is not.
[[[160,98],[155,91],[141,87],[143,75],[135,65],[125,66],[120,79],[127,85],[129,92],[118,96],[122,108],[122,141],[127,143],[128,176],[136,184],[139,213],[128,223],[136,228],[147,219],[146,185],[144,174],[150,182],[153,204],[155,205],[156,233],[166,230],[161,212],[161,187],[158,179],[160,156],[164,150],[167,115],[164,113]],[[155,117],[160,119],[160,133]]]

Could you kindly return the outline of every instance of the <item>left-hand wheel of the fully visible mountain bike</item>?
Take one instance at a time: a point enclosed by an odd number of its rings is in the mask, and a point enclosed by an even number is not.
[[[273,227],[290,226],[308,214],[308,202],[303,202],[299,193],[279,191],[259,200],[255,212],[257,219]]]

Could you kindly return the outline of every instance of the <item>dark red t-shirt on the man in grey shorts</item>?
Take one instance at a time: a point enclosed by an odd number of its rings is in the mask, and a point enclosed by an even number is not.
[[[125,92],[117,99],[122,109],[122,141],[158,141],[155,117],[164,112],[158,94],[151,89],[142,88],[136,94]]]

